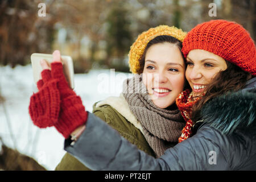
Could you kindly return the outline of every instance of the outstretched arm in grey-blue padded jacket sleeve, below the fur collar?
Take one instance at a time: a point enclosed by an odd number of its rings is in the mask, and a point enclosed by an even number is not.
[[[212,139],[207,136],[215,136]],[[216,142],[213,142],[213,141]],[[223,138],[227,140],[227,138]],[[65,140],[64,150],[75,156],[92,170],[223,170],[229,169],[227,160],[220,150],[221,135],[204,126],[198,134],[155,159],[121,137],[104,121],[89,113],[86,129],[71,146]],[[228,146],[226,146],[228,147]],[[209,152],[216,152],[215,164],[209,163]]]

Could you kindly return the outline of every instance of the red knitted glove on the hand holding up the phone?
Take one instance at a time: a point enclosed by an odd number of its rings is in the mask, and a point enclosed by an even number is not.
[[[87,120],[82,100],[69,88],[61,63],[52,63],[51,71],[42,72],[39,92],[30,99],[30,116],[36,126],[55,126],[65,138]],[[54,115],[54,114],[57,115]]]

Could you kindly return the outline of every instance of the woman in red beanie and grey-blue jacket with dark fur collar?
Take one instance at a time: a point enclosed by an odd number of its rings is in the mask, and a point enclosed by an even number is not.
[[[65,140],[65,150],[93,170],[255,170],[256,51],[249,33],[211,20],[188,32],[182,51],[192,91],[176,99],[187,121],[176,146],[155,159],[89,113],[86,129],[72,146]]]

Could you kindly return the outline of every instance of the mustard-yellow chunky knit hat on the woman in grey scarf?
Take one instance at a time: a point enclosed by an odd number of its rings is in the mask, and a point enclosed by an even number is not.
[[[139,59],[141,59],[147,43],[159,35],[170,35],[180,40],[180,42],[183,42],[185,36],[187,35],[187,32],[183,32],[181,29],[174,26],[169,27],[166,25],[160,25],[158,27],[150,28],[149,30],[142,32],[142,34],[138,36],[137,40],[130,47],[130,52],[128,55],[130,71],[132,73],[135,74],[139,72]]]

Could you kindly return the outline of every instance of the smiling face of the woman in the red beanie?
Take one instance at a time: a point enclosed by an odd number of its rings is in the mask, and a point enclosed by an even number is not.
[[[186,78],[192,88],[193,97],[201,96],[218,72],[227,68],[226,61],[212,52],[193,49],[187,56]]]

